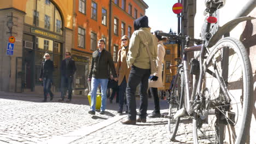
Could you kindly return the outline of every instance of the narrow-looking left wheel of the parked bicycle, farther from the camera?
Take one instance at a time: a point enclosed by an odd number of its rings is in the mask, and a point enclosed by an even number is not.
[[[176,74],[174,85],[172,87],[172,92],[170,95],[170,106],[168,116],[173,116],[179,109],[183,106],[183,95],[184,95],[184,80],[183,71],[179,70]],[[181,118],[170,119],[168,118],[168,131],[169,138],[171,141],[175,140],[175,136],[179,127],[179,122]]]

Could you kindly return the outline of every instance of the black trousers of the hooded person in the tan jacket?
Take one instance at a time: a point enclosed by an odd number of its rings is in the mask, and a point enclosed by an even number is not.
[[[128,118],[131,120],[136,120],[136,98],[135,92],[139,85],[139,97],[140,97],[140,107],[139,107],[139,117],[147,117],[148,109],[148,77],[150,76],[150,69],[141,69],[132,65],[131,72],[129,75],[127,88],[126,88],[126,98],[128,105]]]

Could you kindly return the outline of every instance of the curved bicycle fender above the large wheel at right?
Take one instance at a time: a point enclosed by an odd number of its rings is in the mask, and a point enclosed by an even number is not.
[[[253,19],[256,19],[256,18],[251,17],[251,16],[244,16],[244,17],[238,17],[234,20],[231,20],[231,21],[225,23],[225,25],[220,27],[218,29],[218,31],[213,35],[213,37],[210,39],[207,47],[212,47],[213,45],[215,45],[217,43],[217,41],[222,38],[222,35],[232,31],[232,29],[234,29],[240,22],[253,20]]]

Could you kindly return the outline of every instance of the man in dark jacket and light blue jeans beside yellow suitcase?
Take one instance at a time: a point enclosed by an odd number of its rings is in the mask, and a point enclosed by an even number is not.
[[[105,41],[103,39],[98,40],[98,49],[92,53],[91,58],[91,70],[88,76],[88,81],[91,81],[91,110],[88,112],[91,115],[95,115],[96,105],[96,92],[97,87],[101,85],[101,112],[103,115],[106,109],[107,99],[107,86],[109,69],[111,69],[112,75],[115,81],[118,81],[117,74],[115,73],[114,62],[110,52],[104,49]]]

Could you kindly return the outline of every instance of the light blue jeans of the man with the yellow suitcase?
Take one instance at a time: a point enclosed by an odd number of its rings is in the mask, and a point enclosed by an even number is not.
[[[106,109],[108,79],[91,79],[91,110],[95,111],[96,93],[98,84],[101,84],[101,111]]]

